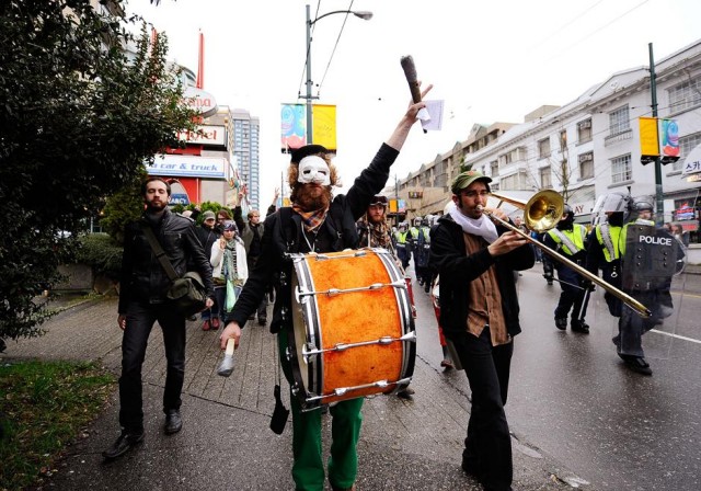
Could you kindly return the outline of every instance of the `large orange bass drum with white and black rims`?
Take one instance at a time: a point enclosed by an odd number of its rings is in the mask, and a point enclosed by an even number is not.
[[[416,331],[404,275],[384,249],[291,254],[287,356],[302,410],[406,387]]]

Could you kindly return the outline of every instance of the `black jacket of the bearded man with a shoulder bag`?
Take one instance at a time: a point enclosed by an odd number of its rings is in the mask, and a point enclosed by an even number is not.
[[[122,279],[119,283],[119,313],[125,313],[127,304],[136,300],[145,304],[162,304],[168,301],[165,294],[171,279],[163,270],[151,249],[142,225],[148,226],[146,216],[127,225],[124,237],[124,255],[122,258]],[[165,209],[161,221],[153,228],[153,233],[170,260],[175,273],[182,276],[187,264],[198,272],[207,288],[207,296],[214,298],[211,265],[209,254],[195,232],[195,224]]]

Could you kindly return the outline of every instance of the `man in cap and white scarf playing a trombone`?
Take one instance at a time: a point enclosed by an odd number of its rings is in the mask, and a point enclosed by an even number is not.
[[[440,277],[440,326],[472,392],[462,469],[485,490],[506,491],[514,465],[504,404],[521,330],[514,271],[532,267],[536,258],[528,240],[484,215],[491,181],[473,170],[453,180],[453,203],[432,229],[429,264]],[[499,208],[493,215],[507,219]]]

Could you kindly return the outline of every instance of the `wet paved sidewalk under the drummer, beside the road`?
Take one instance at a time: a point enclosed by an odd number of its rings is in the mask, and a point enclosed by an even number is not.
[[[72,306],[45,324],[46,335],[9,342],[0,362],[95,359],[118,375],[122,331],[116,319],[116,299]],[[58,472],[43,489],[294,489],[291,421],[279,436],[268,429],[274,408],[275,336],[267,327],[246,326],[229,378],[216,375],[221,355],[217,340],[217,331],[204,332],[199,322],[188,323],[184,426],[165,436],[160,403],[165,359],[160,329],[154,328],[143,365],[143,444],[114,463],[102,461],[102,450],[118,436],[115,386],[111,404],[66,449]],[[422,358],[421,341],[417,347],[414,399],[378,396],[365,403],[358,489],[481,490],[460,469],[470,411],[464,374],[444,374],[429,366]],[[284,380],[283,395],[289,408]],[[331,418],[323,418],[327,455]],[[594,490],[551,456],[519,442],[519,435],[514,435],[513,444],[515,490]]]

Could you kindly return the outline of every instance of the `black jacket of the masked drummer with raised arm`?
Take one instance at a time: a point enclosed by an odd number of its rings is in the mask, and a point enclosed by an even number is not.
[[[389,179],[390,165],[398,155],[399,152],[392,147],[382,145],[370,165],[355,180],[348,193],[334,197],[329,215],[317,236],[315,252],[342,251],[357,247],[358,235],[355,222],[365,214],[372,197],[384,187]],[[233,320],[243,327],[249,316],[255,312],[261,304],[269,284],[276,281],[278,289],[275,296],[271,332],[292,326],[290,312],[294,271],[292,263],[286,254],[310,252],[301,230],[301,217],[288,207],[267,216],[261,242],[261,256],[253,270],[249,272],[249,278],[233,310],[227,317],[227,322]]]

